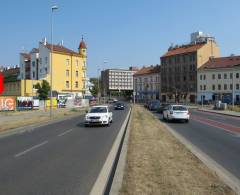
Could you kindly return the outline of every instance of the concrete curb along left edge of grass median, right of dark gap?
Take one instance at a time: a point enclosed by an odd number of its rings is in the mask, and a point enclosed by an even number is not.
[[[132,121],[132,114],[130,115],[128,124],[131,124]],[[124,176],[124,170],[126,167],[127,162],[127,150],[128,150],[128,140],[129,140],[129,134],[130,134],[130,125],[128,125],[126,129],[126,134],[124,137],[123,145],[121,154],[119,156],[117,168],[115,171],[115,175],[113,178],[110,195],[118,195],[121,188],[122,188],[122,182],[123,182],[123,176]]]

